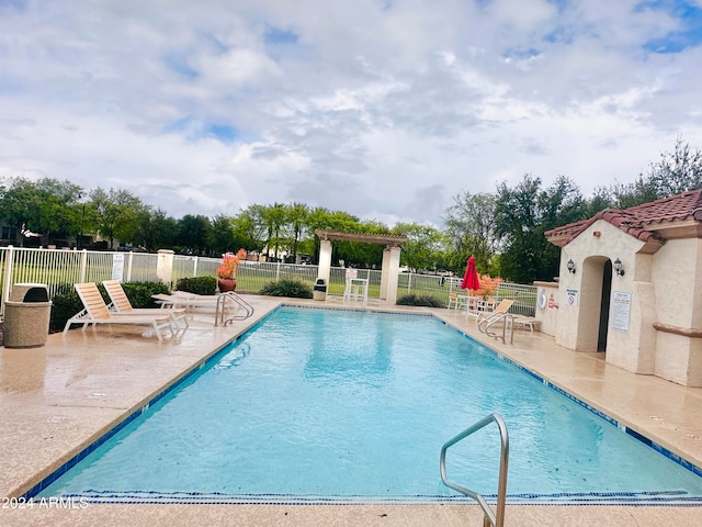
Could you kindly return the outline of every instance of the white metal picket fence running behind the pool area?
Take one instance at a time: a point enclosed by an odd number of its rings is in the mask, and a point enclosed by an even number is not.
[[[27,249],[0,247],[0,315],[4,302],[15,283],[44,283],[49,296],[77,282],[102,282],[118,279],[123,282],[158,281],[158,255],[146,253]],[[192,277],[214,277],[222,260],[195,256],[173,256],[171,270],[174,288],[178,280]],[[328,294],[343,294],[347,269],[332,267],[327,284]],[[242,261],[237,271],[237,291],[256,293],[271,281],[301,280],[310,287],[315,283],[318,266]],[[381,290],[381,271],[359,269],[359,278],[369,279],[369,296],[377,299]],[[460,287],[461,280],[433,274],[400,273],[397,296],[405,294],[430,295],[446,303],[449,293]],[[497,299],[513,299],[513,313],[533,315],[536,305],[536,288],[513,283],[500,283]]]

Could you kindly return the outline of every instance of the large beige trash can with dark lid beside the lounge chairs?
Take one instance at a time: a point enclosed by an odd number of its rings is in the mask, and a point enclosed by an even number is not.
[[[38,348],[48,338],[52,301],[44,283],[15,283],[4,303],[4,347]]]

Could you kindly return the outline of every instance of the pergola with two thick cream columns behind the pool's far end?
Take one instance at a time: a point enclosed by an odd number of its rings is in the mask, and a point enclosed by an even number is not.
[[[399,245],[407,242],[405,236],[389,234],[341,233],[318,228],[319,236],[319,273],[317,278],[329,283],[331,272],[331,240],[363,242],[365,244],[383,244],[383,265],[381,273],[381,300],[388,304],[397,302],[397,279],[399,277]]]

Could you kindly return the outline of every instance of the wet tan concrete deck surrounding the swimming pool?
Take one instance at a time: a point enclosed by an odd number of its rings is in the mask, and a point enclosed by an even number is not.
[[[186,371],[253,325],[282,302],[247,295],[256,316],[214,327],[212,313],[195,313],[190,328],[162,345],[135,327],[76,329],[50,335],[34,349],[0,348],[0,525],[483,525],[477,505],[144,505],[46,504],[15,508],[11,496],[27,492],[70,458]],[[340,307],[327,302],[298,302]],[[355,305],[352,307],[358,309]],[[473,322],[448,310],[433,312],[511,360],[702,467],[702,389],[605,365],[603,356],[575,354],[540,333],[517,330],[513,345],[477,333]],[[466,423],[466,426],[472,423]],[[544,424],[547,426],[547,424]],[[509,427],[509,424],[508,424]],[[460,431],[460,430],[456,430]],[[437,452],[437,476],[439,478]],[[497,470],[497,468],[496,468]],[[702,525],[702,509],[682,506],[508,505],[508,526]]]

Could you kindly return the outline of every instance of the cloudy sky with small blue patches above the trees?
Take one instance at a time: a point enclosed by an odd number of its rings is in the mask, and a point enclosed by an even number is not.
[[[702,149],[702,0],[0,0],[0,177],[439,224]]]

